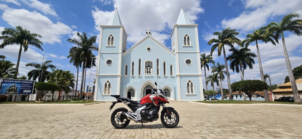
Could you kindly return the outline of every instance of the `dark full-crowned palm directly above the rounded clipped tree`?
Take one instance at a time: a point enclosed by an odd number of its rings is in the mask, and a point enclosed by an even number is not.
[[[240,72],[241,80],[244,80],[243,70],[247,67],[253,69],[253,64],[255,64],[254,58],[257,57],[256,54],[251,52],[251,49],[243,47],[240,49],[231,48],[230,51],[232,54],[226,57],[226,60],[230,61],[230,69]]]

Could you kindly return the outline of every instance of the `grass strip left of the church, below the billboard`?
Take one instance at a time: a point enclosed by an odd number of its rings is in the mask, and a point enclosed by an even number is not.
[[[85,101],[70,101],[70,100],[63,100],[63,101],[47,101],[47,102],[33,102],[33,101],[21,101],[21,102],[0,102],[0,104],[24,104],[24,103],[39,103],[39,104],[67,104],[67,103],[76,103],[76,104],[85,104],[85,103],[93,103],[93,102],[100,102],[100,101],[93,101],[88,100]]]

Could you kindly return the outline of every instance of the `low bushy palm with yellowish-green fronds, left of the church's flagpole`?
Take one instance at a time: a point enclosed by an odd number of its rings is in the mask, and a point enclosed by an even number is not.
[[[65,71],[62,69],[54,70],[49,75],[49,79],[47,82],[53,82],[58,85],[59,97],[58,100],[61,99],[61,94],[63,91],[69,92],[71,88],[74,88],[75,76],[70,73],[70,71]]]

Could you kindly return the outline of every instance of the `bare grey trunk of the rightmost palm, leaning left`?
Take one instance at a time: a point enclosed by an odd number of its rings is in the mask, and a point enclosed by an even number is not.
[[[298,93],[298,89],[297,89],[297,85],[296,85],[296,80],[294,78],[293,70],[291,68],[291,61],[289,60],[288,53],[287,53],[287,50],[286,50],[283,32],[282,32],[282,43],[283,43],[283,50],[284,50],[286,67],[287,67],[287,70],[288,70],[288,76],[289,76],[289,80],[291,82],[291,89],[292,89],[293,95],[294,95],[294,102],[295,103],[302,103],[301,97]]]

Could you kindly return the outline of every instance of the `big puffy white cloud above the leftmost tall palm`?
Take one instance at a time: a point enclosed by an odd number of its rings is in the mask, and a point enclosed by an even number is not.
[[[2,10],[4,10],[2,19],[8,22],[9,25],[22,26],[31,32],[40,34],[42,36],[40,40],[43,43],[60,43],[62,36],[72,31],[66,24],[61,22],[53,23],[49,18],[36,11],[30,12],[25,9],[11,8]]]

